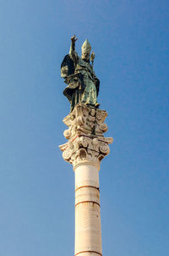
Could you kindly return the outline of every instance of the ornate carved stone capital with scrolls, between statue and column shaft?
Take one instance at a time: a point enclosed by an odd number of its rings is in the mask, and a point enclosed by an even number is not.
[[[99,170],[100,162],[109,153],[108,144],[112,143],[112,137],[104,137],[103,133],[108,127],[104,123],[106,110],[95,109],[78,103],[74,111],[63,119],[68,130],[63,135],[68,142],[60,145],[63,151],[63,159],[74,165],[93,164]]]

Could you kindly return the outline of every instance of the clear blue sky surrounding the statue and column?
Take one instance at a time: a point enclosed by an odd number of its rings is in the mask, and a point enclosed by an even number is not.
[[[60,64],[86,37],[108,111],[103,255],[169,255],[169,3],[1,0],[0,256],[74,255],[74,172]]]

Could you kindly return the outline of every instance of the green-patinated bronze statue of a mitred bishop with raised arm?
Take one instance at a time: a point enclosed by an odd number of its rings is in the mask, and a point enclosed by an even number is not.
[[[85,103],[94,108],[98,108],[100,105],[97,103],[100,81],[93,70],[95,53],[90,55],[90,43],[86,40],[81,47],[80,58],[75,52],[77,40],[75,35],[71,37],[69,54],[63,58],[61,64],[61,77],[65,79],[64,82],[68,85],[63,94],[68,97],[71,106],[70,111],[74,109],[77,103]]]

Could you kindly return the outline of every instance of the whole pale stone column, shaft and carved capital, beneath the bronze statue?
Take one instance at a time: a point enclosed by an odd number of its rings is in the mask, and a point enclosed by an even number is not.
[[[59,146],[75,173],[75,255],[102,255],[99,170],[112,138],[102,134],[106,111],[79,103],[63,122],[68,142]]]

